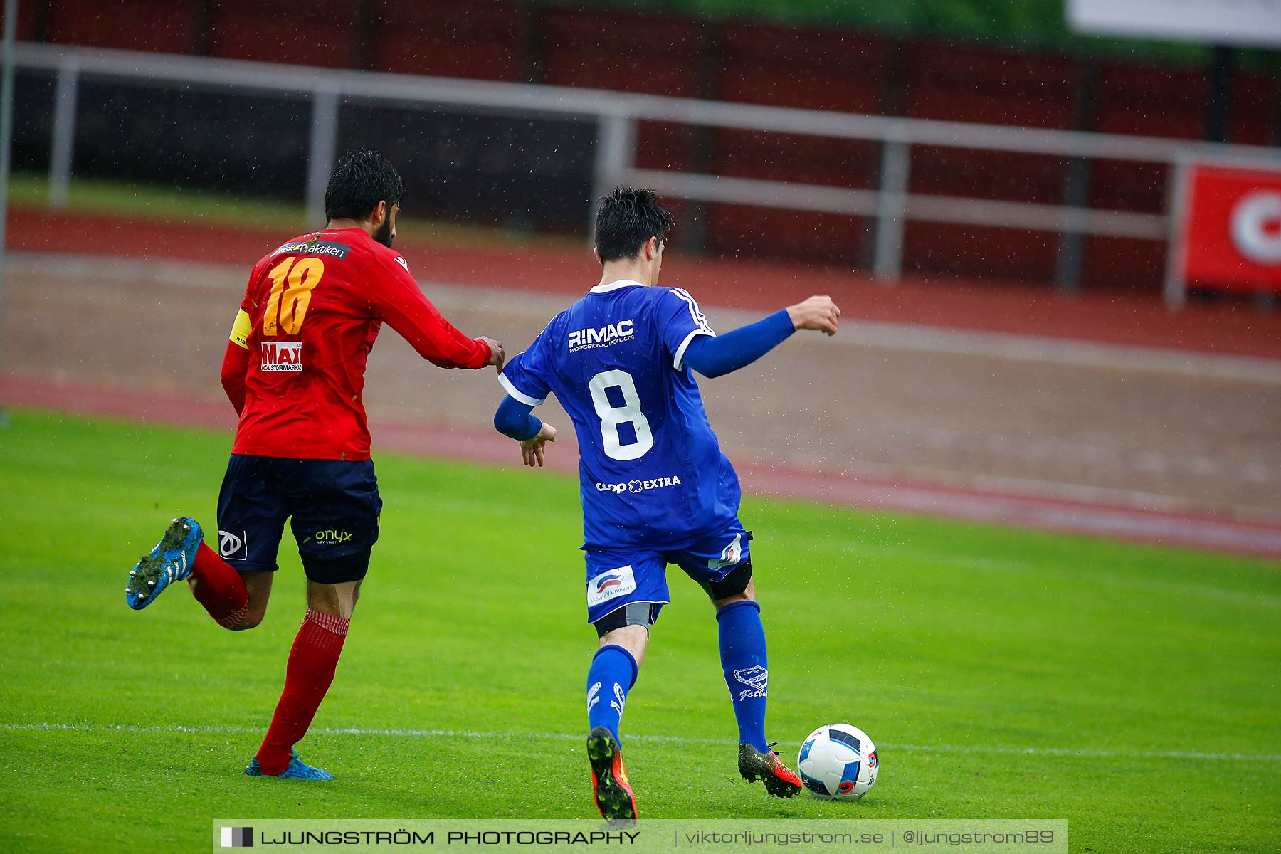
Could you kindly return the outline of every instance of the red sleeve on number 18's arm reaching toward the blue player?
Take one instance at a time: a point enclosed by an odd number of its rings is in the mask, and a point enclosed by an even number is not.
[[[374,316],[395,329],[414,350],[441,367],[475,370],[489,362],[489,344],[474,341],[446,320],[423,296],[409,268],[398,260],[374,256],[370,305]]]

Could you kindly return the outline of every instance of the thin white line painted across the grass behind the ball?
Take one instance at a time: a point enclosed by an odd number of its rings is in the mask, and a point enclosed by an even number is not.
[[[0,732],[216,732],[250,734],[261,732],[250,726],[135,726],[127,723],[0,723]],[[579,741],[578,732],[479,732],[475,730],[374,730],[363,727],[314,727],[311,735],[357,735],[383,736],[393,739],[556,739]],[[664,744],[738,744],[731,739],[705,739],[684,735],[629,735],[633,741],[656,741]],[[1090,757],[1117,759],[1220,759],[1225,762],[1281,762],[1278,753],[1198,753],[1194,750],[1093,750],[1090,748],[1000,748],[989,745],[927,745],[883,743],[885,750],[910,750],[921,753],[994,753],[1002,755],[1029,757]]]

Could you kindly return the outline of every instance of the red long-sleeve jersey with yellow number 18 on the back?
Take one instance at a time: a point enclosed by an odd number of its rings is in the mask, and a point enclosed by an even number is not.
[[[489,346],[441,316],[405,259],[361,228],[297,237],[255,264],[223,359],[240,414],[232,453],[368,460],[361,392],[383,323],[441,367],[489,361]]]

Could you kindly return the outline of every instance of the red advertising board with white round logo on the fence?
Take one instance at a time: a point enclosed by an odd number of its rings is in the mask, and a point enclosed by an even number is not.
[[[1281,169],[1198,163],[1182,183],[1182,283],[1281,292]]]

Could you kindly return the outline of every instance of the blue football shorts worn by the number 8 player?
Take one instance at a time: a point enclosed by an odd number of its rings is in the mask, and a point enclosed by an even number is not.
[[[681,549],[588,549],[587,621],[597,622],[635,602],[648,602],[649,621],[657,620],[662,606],[671,602],[667,592],[669,563],[679,566],[712,595],[712,585],[748,562],[749,540],[751,534],[735,517],[720,531]]]

